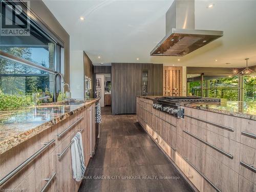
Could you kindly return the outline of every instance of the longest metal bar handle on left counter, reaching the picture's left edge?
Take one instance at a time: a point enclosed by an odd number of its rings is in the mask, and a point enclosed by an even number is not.
[[[3,179],[1,179],[0,186],[3,185],[5,182],[7,182],[9,179],[11,179],[16,173],[18,173],[22,168],[24,168],[26,165],[28,165],[33,159],[35,159],[38,155],[40,155],[42,152],[44,152],[54,142],[55,142],[55,139],[52,139],[50,142],[44,143],[45,146],[41,147],[40,150],[38,150],[36,153],[34,153],[32,156],[30,156],[26,161],[24,161],[22,164],[18,165],[9,174],[7,174]]]

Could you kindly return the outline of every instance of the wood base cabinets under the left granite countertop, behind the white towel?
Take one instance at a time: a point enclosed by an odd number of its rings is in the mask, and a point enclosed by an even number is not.
[[[83,118],[82,118],[83,117]],[[70,143],[81,132],[86,166],[95,150],[95,104],[83,109],[29,140],[0,155],[0,178],[4,178],[18,165],[52,141],[29,164],[9,179],[1,190],[22,188],[24,191],[40,191],[52,178],[47,191],[78,191],[80,182],[73,180]],[[58,137],[57,134],[61,134]],[[65,153],[59,158],[58,154]]]

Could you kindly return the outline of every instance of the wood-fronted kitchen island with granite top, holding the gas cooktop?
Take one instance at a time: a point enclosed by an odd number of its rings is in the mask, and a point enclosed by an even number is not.
[[[137,120],[195,190],[256,190],[254,103],[183,103],[176,118],[154,98],[137,97]]]

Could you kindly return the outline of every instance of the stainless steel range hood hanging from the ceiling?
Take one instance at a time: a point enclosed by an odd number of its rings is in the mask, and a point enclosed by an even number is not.
[[[165,20],[166,35],[151,55],[184,56],[223,36],[223,31],[195,29],[194,0],[175,0]]]

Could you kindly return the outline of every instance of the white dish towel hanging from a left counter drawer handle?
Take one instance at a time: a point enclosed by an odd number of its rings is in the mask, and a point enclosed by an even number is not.
[[[76,181],[81,181],[83,174],[86,170],[84,165],[84,155],[82,147],[82,135],[78,132],[72,139],[71,144],[71,159],[72,159],[72,169],[73,169],[73,179]]]

